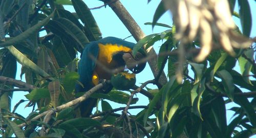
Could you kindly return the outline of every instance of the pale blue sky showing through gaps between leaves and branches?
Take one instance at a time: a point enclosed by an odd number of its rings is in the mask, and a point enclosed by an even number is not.
[[[92,0],[87,0],[84,1],[89,8],[94,8],[94,7],[98,7],[103,5],[103,3],[101,1],[92,1]],[[152,33],[160,33],[162,31],[167,30],[167,28],[163,28],[163,27],[155,27],[154,30],[152,30],[152,26],[150,25],[144,25],[145,22],[152,22],[153,20],[153,15],[155,13],[155,10],[159,4],[159,0],[152,0],[152,2],[150,2],[149,4],[147,4],[147,0],[123,0],[121,1],[121,3],[124,5],[124,7],[127,9],[127,11],[130,12],[130,14],[132,15],[132,17],[134,17],[134,19],[137,21],[138,25],[141,27],[141,29],[144,31],[144,33],[146,35],[152,34]],[[251,13],[252,13],[252,32],[251,32],[251,37],[255,37],[256,36],[256,26],[255,26],[255,21],[256,21],[256,17],[255,14],[255,8],[252,7],[256,7],[256,4],[253,0],[249,0],[250,5],[251,5]],[[66,7],[67,10],[74,12],[74,9],[72,6],[67,6]],[[238,11],[238,6],[236,6],[236,11]],[[116,14],[112,11],[112,9],[110,7],[102,7],[100,9],[95,9],[92,10],[92,13],[95,17],[95,20],[101,30],[102,36],[103,37],[107,37],[107,36],[114,36],[114,37],[119,37],[119,38],[126,38],[128,36],[130,36],[130,32],[125,28],[125,26],[122,24],[122,22],[119,20],[119,18],[116,16]],[[234,21],[236,22],[236,24],[240,27],[240,21],[237,17],[233,18]],[[173,22],[172,22],[172,16],[169,12],[166,12],[158,22],[161,22],[163,24],[167,24],[172,26]],[[133,37],[127,38],[127,41],[131,41],[131,42],[135,42],[135,39]],[[162,42],[157,42],[154,45],[154,49],[156,50],[156,52],[158,52],[160,45],[162,44]],[[166,70],[165,73],[167,74]],[[16,76],[16,79],[20,80],[20,65],[18,68],[18,73]],[[147,80],[151,80],[154,79],[154,76],[150,70],[150,68],[148,67],[148,65],[146,66],[146,68],[144,69],[144,71],[140,74],[137,75],[137,85],[139,83],[143,83]],[[22,79],[24,81],[24,78]],[[153,85],[148,85],[151,88],[156,88]],[[14,92],[13,95],[13,101],[12,101],[12,105],[14,106],[20,99],[26,99],[24,97],[24,95],[27,94],[27,92],[24,91],[16,91]],[[137,97],[139,98],[138,101],[138,105],[147,105],[148,100],[146,97],[142,96],[141,94],[137,94]],[[31,112],[31,108],[25,108],[25,105],[27,103],[21,104],[19,106],[19,108],[17,109],[17,112],[22,114],[23,116],[27,116],[29,112]],[[113,106],[113,108],[116,107],[120,107],[120,106],[125,106],[125,105],[118,105],[118,104],[111,104]],[[228,108],[230,108],[230,106],[234,106],[232,105],[228,105]],[[135,110],[131,110],[132,112],[137,112]],[[232,116],[232,112],[228,111],[228,118],[230,118]],[[227,120],[229,122],[229,119]]]

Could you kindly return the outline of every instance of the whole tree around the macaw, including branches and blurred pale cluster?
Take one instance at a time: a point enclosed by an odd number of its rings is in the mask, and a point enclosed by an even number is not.
[[[250,36],[253,25],[247,0],[159,1],[152,22],[146,24],[166,30],[147,36],[118,0],[101,1],[96,10],[109,6],[116,13],[137,41],[133,55],[145,50],[147,57],[140,62],[148,62],[151,71],[146,72],[155,78],[126,91],[94,93],[103,87],[99,83],[83,95],[75,94],[77,55],[87,43],[102,38],[86,2],[1,0],[1,136],[250,137],[256,133],[256,38]],[[239,12],[233,10],[236,4]],[[158,22],[166,11],[172,13],[173,25]],[[241,30],[232,16],[241,21]],[[157,41],[162,41],[158,54],[151,47]],[[17,62],[24,82],[15,79]],[[13,91],[29,94],[11,110]],[[135,98],[138,93],[150,102],[133,105],[141,100]],[[81,118],[79,103],[89,97],[101,104],[90,118]],[[16,108],[26,100],[26,107],[33,110],[23,117]],[[109,101],[124,106],[113,109]],[[239,106],[226,108],[229,103]],[[230,122],[227,110],[234,112]]]

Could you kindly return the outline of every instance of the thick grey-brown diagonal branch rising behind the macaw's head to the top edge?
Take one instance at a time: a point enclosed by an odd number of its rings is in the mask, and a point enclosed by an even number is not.
[[[145,34],[141,30],[141,28],[138,26],[137,22],[130,15],[130,13],[123,7],[120,1],[116,1],[115,3],[113,3],[113,1],[115,0],[112,0],[109,3],[109,6],[116,13],[119,19],[123,22],[124,26],[130,31],[130,33],[133,35],[135,40],[139,41],[140,39],[144,38]],[[146,51],[147,51],[147,56],[156,56],[156,52],[153,48],[148,49]],[[150,65],[151,71],[153,72],[153,75],[156,78],[159,73],[159,70],[157,68],[157,58],[148,60],[148,64]],[[164,72],[162,72],[159,78],[159,83],[161,85],[164,85],[166,82],[167,82],[167,78]]]

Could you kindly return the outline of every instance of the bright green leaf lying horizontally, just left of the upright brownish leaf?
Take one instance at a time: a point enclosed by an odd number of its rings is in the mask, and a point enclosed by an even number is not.
[[[30,94],[25,95],[30,101],[37,101],[42,98],[50,98],[50,93],[47,88],[36,88]]]

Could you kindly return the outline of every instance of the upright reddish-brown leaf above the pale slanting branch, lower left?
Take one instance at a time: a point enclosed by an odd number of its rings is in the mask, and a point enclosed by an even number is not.
[[[60,94],[60,84],[59,81],[52,81],[48,85],[48,89],[50,92],[51,103],[53,107],[56,108],[59,104],[59,94]]]

